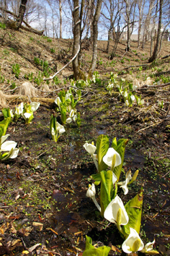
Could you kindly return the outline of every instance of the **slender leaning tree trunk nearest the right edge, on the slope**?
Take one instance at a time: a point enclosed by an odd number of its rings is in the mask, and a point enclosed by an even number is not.
[[[159,2],[159,18],[158,18],[158,35],[156,38],[156,46],[153,50],[153,55],[151,56],[150,59],[148,59],[148,62],[151,63],[154,60],[156,60],[159,50],[160,50],[160,43],[161,43],[161,20],[162,20],[162,6],[163,6],[163,1],[160,0]]]

